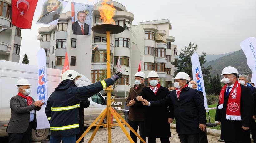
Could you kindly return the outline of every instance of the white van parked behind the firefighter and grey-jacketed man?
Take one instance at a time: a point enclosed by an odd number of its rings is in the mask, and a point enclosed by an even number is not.
[[[8,136],[6,127],[11,118],[10,99],[17,95],[16,83],[20,78],[26,78],[31,84],[31,94],[37,101],[37,75],[36,65],[27,65],[16,62],[0,60],[0,137]],[[52,94],[54,88],[61,80],[62,70],[47,68],[48,96]],[[92,84],[88,78],[82,75],[80,85]],[[84,125],[90,125],[101,112],[106,108],[105,99],[101,93],[96,93],[89,98],[90,106],[84,109]],[[104,119],[106,123],[106,118]],[[49,129],[32,130],[31,140],[42,141],[49,135]]]

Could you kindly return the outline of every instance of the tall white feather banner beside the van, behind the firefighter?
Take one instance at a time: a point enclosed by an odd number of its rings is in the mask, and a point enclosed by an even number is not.
[[[49,121],[44,112],[48,100],[47,72],[45,50],[40,49],[37,52],[38,59],[38,83],[37,83],[37,100],[43,100],[41,110],[37,111],[37,129],[50,128]]]

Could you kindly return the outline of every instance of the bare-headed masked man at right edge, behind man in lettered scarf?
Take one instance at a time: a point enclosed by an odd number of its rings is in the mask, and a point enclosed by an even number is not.
[[[249,80],[248,76],[245,75],[245,74],[242,74],[242,75],[239,76],[239,83],[246,86],[246,87],[249,87],[251,89],[252,93],[255,93],[256,88],[251,86],[251,84],[248,83],[248,80]],[[255,107],[255,103],[254,103],[253,106]],[[254,111],[254,113],[255,113],[255,111]],[[256,142],[256,123],[255,123],[254,118],[252,118],[252,125],[250,127],[250,130],[252,132],[253,141]]]

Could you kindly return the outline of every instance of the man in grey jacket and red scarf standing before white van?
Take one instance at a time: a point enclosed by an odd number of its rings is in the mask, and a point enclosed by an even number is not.
[[[6,131],[9,143],[28,143],[32,129],[37,128],[36,110],[39,111],[43,103],[28,96],[31,89],[27,79],[18,80],[16,86],[19,92],[10,100],[11,119]]]

